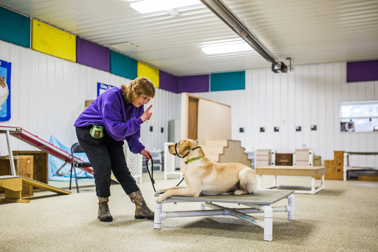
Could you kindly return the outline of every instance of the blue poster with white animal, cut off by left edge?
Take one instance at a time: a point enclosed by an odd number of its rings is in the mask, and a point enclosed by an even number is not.
[[[11,63],[0,60],[0,121],[11,119]]]

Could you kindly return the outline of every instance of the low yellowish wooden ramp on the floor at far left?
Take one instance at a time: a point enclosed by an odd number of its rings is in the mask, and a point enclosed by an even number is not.
[[[31,185],[40,189],[52,191],[58,194],[71,194],[70,191],[66,191],[51,185],[29,179],[22,176],[0,176],[0,188],[5,190],[5,198],[0,198],[0,201],[5,202],[20,202],[20,203],[29,203],[29,199],[22,199],[22,184]]]

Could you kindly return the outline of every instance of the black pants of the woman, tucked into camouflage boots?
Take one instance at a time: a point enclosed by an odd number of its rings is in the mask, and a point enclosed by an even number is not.
[[[127,168],[123,141],[115,141],[104,130],[104,137],[93,138],[89,131],[92,126],[76,127],[76,135],[93,168],[96,194],[110,196],[112,171],[125,193],[139,190],[136,181]]]

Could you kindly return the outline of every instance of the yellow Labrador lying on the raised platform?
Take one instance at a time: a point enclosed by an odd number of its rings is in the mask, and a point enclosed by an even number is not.
[[[203,153],[201,146],[191,139],[183,139],[168,146],[169,153],[183,158],[184,179],[187,187],[170,187],[157,190],[155,202],[170,196],[198,197],[233,192],[235,195],[252,194],[256,191],[256,173],[241,163],[215,163]]]

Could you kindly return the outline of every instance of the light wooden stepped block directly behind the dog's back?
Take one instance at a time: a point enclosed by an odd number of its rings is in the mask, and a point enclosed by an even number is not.
[[[201,146],[206,157],[217,163],[242,163],[251,167],[251,160],[244,152],[240,141],[235,140],[205,140]]]

